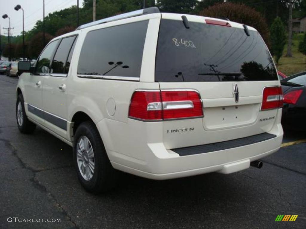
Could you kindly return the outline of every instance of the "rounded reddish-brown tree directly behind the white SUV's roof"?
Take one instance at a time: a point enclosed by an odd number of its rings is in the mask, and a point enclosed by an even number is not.
[[[252,26],[259,31],[264,41],[270,46],[270,35],[267,23],[260,13],[244,4],[231,2],[218,3],[200,11],[199,14],[216,18],[226,17],[231,21]]]

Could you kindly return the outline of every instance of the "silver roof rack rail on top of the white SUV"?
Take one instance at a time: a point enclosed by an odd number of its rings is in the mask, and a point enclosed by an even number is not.
[[[76,30],[79,29],[84,29],[87,27],[91,27],[94,25],[99,25],[99,24],[103,24],[103,23],[107,23],[107,22],[111,22],[111,21],[117,21],[117,20],[121,20],[121,19],[125,19],[125,18],[129,18],[129,17],[135,17],[135,16],[140,16],[140,15],[144,15],[144,14],[150,14],[150,13],[160,13],[159,9],[157,7],[149,7],[149,8],[144,8],[144,9],[139,9],[139,10],[135,10],[129,13],[122,13],[116,16],[111,16],[111,17],[107,17],[98,21],[93,21],[84,25],[80,25],[79,27],[76,28]]]

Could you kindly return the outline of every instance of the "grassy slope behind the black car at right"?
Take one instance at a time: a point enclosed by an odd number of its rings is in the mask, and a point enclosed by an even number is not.
[[[299,43],[303,40],[303,36],[304,34],[293,34],[293,57],[285,57],[287,53],[287,45],[285,45],[283,56],[279,59],[279,63],[276,65],[277,70],[287,76],[306,70],[306,56],[298,51]]]

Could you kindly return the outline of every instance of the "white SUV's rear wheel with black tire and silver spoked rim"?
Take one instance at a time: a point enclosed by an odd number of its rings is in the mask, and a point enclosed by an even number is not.
[[[118,171],[110,164],[95,124],[91,121],[81,123],[74,140],[73,162],[81,185],[94,194],[114,188]]]

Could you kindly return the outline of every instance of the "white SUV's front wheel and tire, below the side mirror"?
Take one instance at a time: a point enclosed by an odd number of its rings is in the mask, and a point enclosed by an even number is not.
[[[36,125],[29,121],[27,115],[25,114],[24,99],[22,94],[18,95],[16,102],[16,119],[18,129],[21,133],[30,134],[34,132]]]

